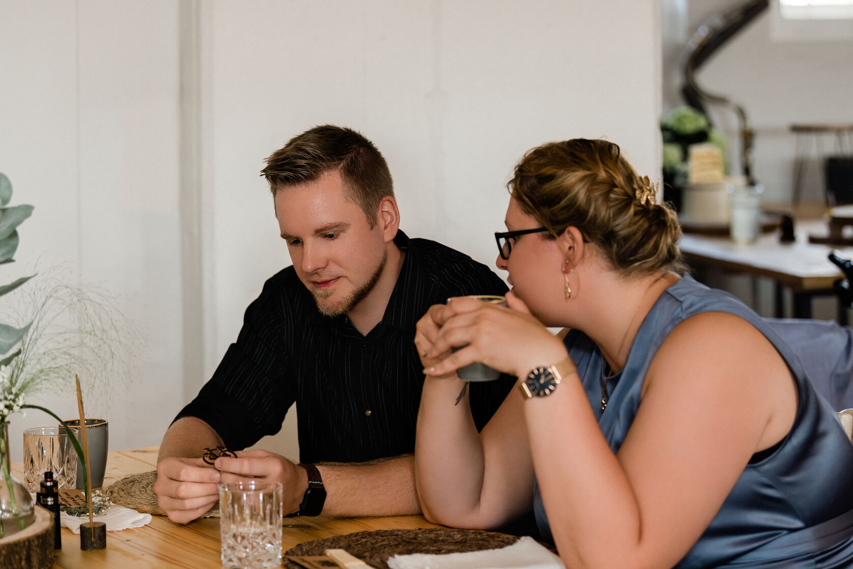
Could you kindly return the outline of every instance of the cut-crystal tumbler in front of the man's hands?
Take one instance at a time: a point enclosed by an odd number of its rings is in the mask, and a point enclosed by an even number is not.
[[[223,566],[281,566],[281,496],[278,482],[243,480],[219,485]]]

